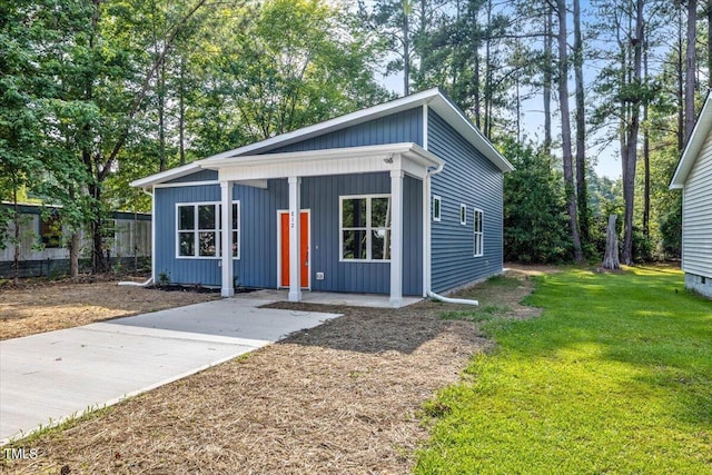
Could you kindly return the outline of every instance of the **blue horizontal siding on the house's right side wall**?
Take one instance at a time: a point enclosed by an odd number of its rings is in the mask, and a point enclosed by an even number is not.
[[[502,271],[503,177],[488,159],[428,110],[428,150],[445,160],[433,177],[442,220],[432,222],[432,287],[444,291]],[[467,224],[459,224],[459,205]],[[484,211],[484,256],[473,257],[473,209]]]

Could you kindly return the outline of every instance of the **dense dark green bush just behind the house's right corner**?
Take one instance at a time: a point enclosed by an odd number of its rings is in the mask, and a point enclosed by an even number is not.
[[[513,140],[505,140],[502,149],[516,167],[504,177],[505,260],[571,260],[563,189],[552,171],[552,158]]]

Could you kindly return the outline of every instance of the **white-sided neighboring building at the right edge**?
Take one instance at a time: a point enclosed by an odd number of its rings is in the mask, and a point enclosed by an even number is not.
[[[708,93],[670,189],[682,189],[685,287],[712,297],[712,98]]]

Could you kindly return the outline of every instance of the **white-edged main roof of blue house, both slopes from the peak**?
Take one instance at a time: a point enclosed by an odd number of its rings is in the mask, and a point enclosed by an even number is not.
[[[416,92],[389,102],[369,107],[367,109],[357,110],[345,116],[336,117],[314,126],[304,127],[291,132],[281,133],[270,137],[258,142],[254,142],[233,150],[207,157],[204,160],[214,164],[217,159],[227,159],[246,155],[259,155],[274,150],[279,147],[288,146],[298,141],[303,141],[313,137],[322,136],[346,127],[356,126],[373,119],[390,116],[404,110],[413,109],[418,106],[427,105],[438,116],[441,116],[451,127],[453,127],[461,136],[463,136],[471,145],[479,150],[492,164],[494,164],[503,172],[513,171],[514,167],[510,161],[500,154],[492,142],[487,140],[482,132],[469,121],[464,112],[447,98],[439,88],[428,89]],[[201,162],[197,160],[182,167],[174,168],[160,174],[131,182],[134,187],[150,187],[168,180],[174,180],[190,175],[201,169]]]

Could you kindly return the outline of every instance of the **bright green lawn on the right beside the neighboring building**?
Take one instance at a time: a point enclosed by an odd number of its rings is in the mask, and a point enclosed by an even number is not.
[[[680,271],[567,270],[526,303],[472,318],[497,349],[426,405],[415,473],[712,474],[712,301]]]

